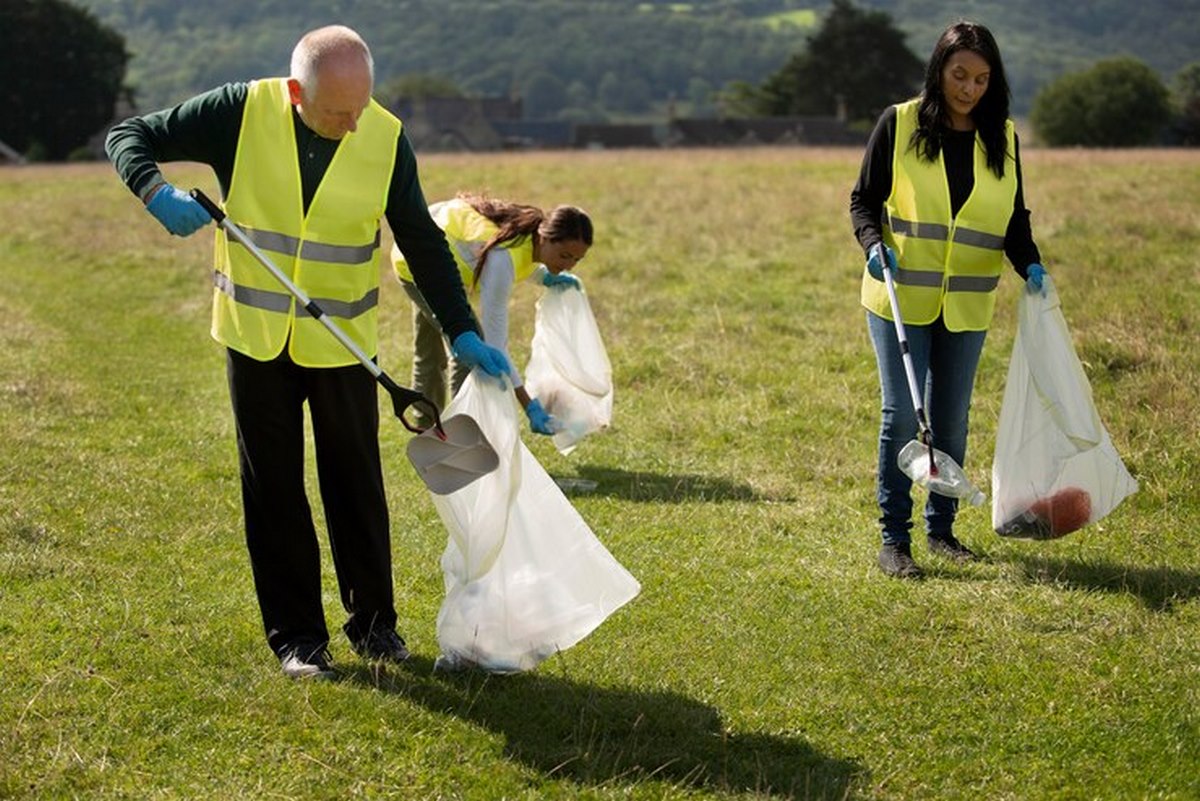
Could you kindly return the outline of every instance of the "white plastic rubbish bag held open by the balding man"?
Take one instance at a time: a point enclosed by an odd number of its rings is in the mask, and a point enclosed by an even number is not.
[[[520,438],[511,390],[473,371],[446,415],[473,417],[499,466],[433,504],[442,554],[439,666],[529,670],[587,637],[641,590]]]

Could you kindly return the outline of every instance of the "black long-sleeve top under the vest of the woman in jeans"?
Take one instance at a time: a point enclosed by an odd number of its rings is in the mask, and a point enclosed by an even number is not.
[[[850,218],[854,225],[854,236],[863,247],[864,254],[870,254],[883,239],[883,204],[892,193],[892,155],[896,138],[896,110],[888,108],[881,116],[866,143],[863,156],[863,168],[858,182],[850,193]],[[1013,164],[1016,169],[1016,198],[1013,201],[1013,216],[1008,219],[1004,234],[1004,254],[1013,264],[1018,275],[1025,279],[1031,264],[1040,264],[1042,255],[1033,241],[1030,228],[1030,212],[1025,207],[1025,193],[1021,186],[1021,152],[1013,135]],[[959,209],[971,197],[974,188],[974,131],[943,132],[942,157],[946,163],[946,180],[950,189],[950,213],[958,215]]]

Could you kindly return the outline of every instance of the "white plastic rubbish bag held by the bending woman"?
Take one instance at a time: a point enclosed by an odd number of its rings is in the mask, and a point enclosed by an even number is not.
[[[538,301],[526,389],[562,424],[554,447],[564,456],[612,422],[612,365],[582,289]]]

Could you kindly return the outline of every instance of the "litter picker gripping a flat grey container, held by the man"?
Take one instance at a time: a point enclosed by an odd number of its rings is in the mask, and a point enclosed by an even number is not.
[[[282,270],[266,255],[253,240],[246,235],[229,217],[224,210],[215,204],[200,189],[191,191],[204,210],[209,212],[217,225],[220,225],[239,245],[245,247],[254,259],[278,281],[288,293],[312,315],[318,323],[354,355],[359,362],[374,375],[379,385],[391,396],[392,408],[396,417],[404,428],[418,434],[408,442],[407,453],[409,462],[416,469],[418,475],[438,495],[452,493],[466,487],[475,478],[484,476],[499,464],[499,457],[494,448],[484,436],[479,424],[467,415],[455,415],[445,421],[438,414],[437,405],[416,390],[396,384],[362,349],[352,339],[320,306],[295,285]],[[422,411],[433,418],[433,426],[422,429],[404,416],[410,406],[420,406]]]

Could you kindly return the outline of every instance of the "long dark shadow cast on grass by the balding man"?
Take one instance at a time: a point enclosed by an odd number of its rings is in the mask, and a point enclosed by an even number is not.
[[[718,710],[685,695],[595,687],[546,667],[511,676],[436,674],[430,660],[413,657],[383,681],[365,666],[347,679],[500,734],[506,758],[548,779],[846,799],[864,773],[798,737],[730,733]]]

